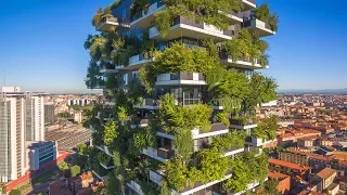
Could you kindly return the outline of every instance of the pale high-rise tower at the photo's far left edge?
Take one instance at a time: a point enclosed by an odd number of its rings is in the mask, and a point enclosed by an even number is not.
[[[26,172],[25,142],[44,140],[43,94],[5,87],[0,94],[0,182]]]

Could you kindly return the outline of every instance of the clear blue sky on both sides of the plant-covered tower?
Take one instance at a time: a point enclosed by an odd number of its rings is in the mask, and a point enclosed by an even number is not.
[[[91,17],[112,0],[0,0],[0,87],[88,91]],[[267,0],[280,16],[270,43],[270,69],[280,89],[347,88],[347,1]],[[7,74],[4,74],[4,72]]]

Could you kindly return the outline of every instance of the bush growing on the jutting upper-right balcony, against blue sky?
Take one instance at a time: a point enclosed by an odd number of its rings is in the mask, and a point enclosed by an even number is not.
[[[257,6],[254,10],[254,16],[265,23],[268,23],[273,31],[278,30],[279,16],[270,13],[270,9],[267,3]]]

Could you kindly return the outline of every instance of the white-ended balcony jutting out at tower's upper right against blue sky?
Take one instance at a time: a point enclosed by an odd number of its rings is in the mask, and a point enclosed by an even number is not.
[[[271,29],[269,24],[257,18],[245,21],[242,26],[260,37],[275,35],[275,31]]]

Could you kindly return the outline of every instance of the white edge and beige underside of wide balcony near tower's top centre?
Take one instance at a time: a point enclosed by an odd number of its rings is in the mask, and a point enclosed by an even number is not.
[[[159,40],[172,40],[181,37],[192,38],[192,39],[211,39],[215,42],[222,42],[232,39],[231,36],[223,35],[218,30],[209,30],[207,25],[204,28],[194,27],[187,24],[177,24],[172,26],[167,35],[163,37],[156,27],[150,28],[150,38]]]

